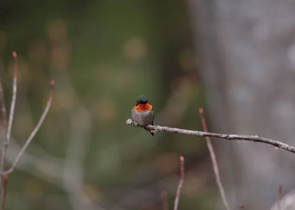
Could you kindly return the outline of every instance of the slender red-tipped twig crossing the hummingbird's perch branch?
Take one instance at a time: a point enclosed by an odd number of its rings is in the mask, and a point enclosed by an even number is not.
[[[208,132],[206,120],[205,120],[205,117],[204,117],[204,114],[203,114],[204,113],[203,108],[199,109],[199,113],[200,113],[200,117],[201,117],[201,121],[202,121],[203,130],[205,132]],[[217,184],[217,186],[219,188],[220,195],[221,195],[221,198],[222,198],[222,201],[223,201],[223,204],[224,204],[225,208],[227,210],[230,210],[230,207],[229,207],[229,204],[228,204],[228,201],[226,199],[225,192],[224,192],[224,189],[223,189],[223,186],[222,186],[222,183],[221,183],[219,170],[218,170],[218,165],[217,165],[215,153],[214,153],[214,150],[213,150],[213,146],[211,144],[211,140],[210,140],[210,138],[208,136],[206,136],[205,138],[206,138],[207,147],[208,147],[208,150],[209,150],[209,153],[210,153],[210,157],[211,157],[211,160],[212,160],[212,163],[213,163],[213,170],[214,170],[214,174],[215,174],[216,184]]]

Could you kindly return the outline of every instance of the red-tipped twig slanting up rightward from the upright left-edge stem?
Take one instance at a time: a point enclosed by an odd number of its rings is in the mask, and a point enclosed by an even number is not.
[[[27,139],[26,143],[24,144],[24,146],[22,147],[21,151],[19,152],[19,154],[17,155],[17,157],[15,158],[12,166],[10,167],[10,169],[8,169],[7,171],[3,172],[2,174],[10,174],[11,172],[14,171],[18,161],[20,160],[20,158],[22,157],[22,155],[24,154],[24,152],[26,151],[27,147],[29,146],[29,143],[31,142],[31,140],[33,139],[33,137],[35,136],[35,134],[37,133],[37,131],[40,129],[52,102],[53,99],[53,88],[54,88],[54,81],[51,81],[51,90],[50,90],[50,94],[49,94],[49,98],[47,101],[47,105],[44,109],[44,112],[38,122],[38,124],[36,125],[36,127],[34,128],[34,130],[31,132],[29,138]]]

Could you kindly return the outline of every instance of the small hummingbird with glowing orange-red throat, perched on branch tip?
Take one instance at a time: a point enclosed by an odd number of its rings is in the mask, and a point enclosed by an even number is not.
[[[152,105],[148,103],[148,98],[146,96],[140,95],[137,98],[136,105],[131,110],[131,117],[134,122],[141,126],[153,126],[153,119],[155,117],[154,110]],[[152,136],[154,135],[153,132],[149,132]]]

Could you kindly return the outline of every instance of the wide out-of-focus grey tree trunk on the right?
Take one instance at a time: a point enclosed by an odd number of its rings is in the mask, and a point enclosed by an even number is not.
[[[189,0],[207,114],[214,132],[257,134],[295,145],[295,2]],[[269,209],[295,186],[295,156],[216,139],[231,209]],[[217,209],[221,209],[220,204]]]

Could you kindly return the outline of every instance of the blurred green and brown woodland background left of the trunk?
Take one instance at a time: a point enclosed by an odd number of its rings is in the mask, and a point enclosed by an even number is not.
[[[205,96],[185,1],[1,0],[0,21],[7,109],[12,51],[19,62],[7,167],[56,82],[50,112],[9,176],[6,209],[173,209],[180,155],[179,209],[212,209],[219,195],[202,138],[152,137],[125,123],[144,94],[155,125],[202,130]]]

